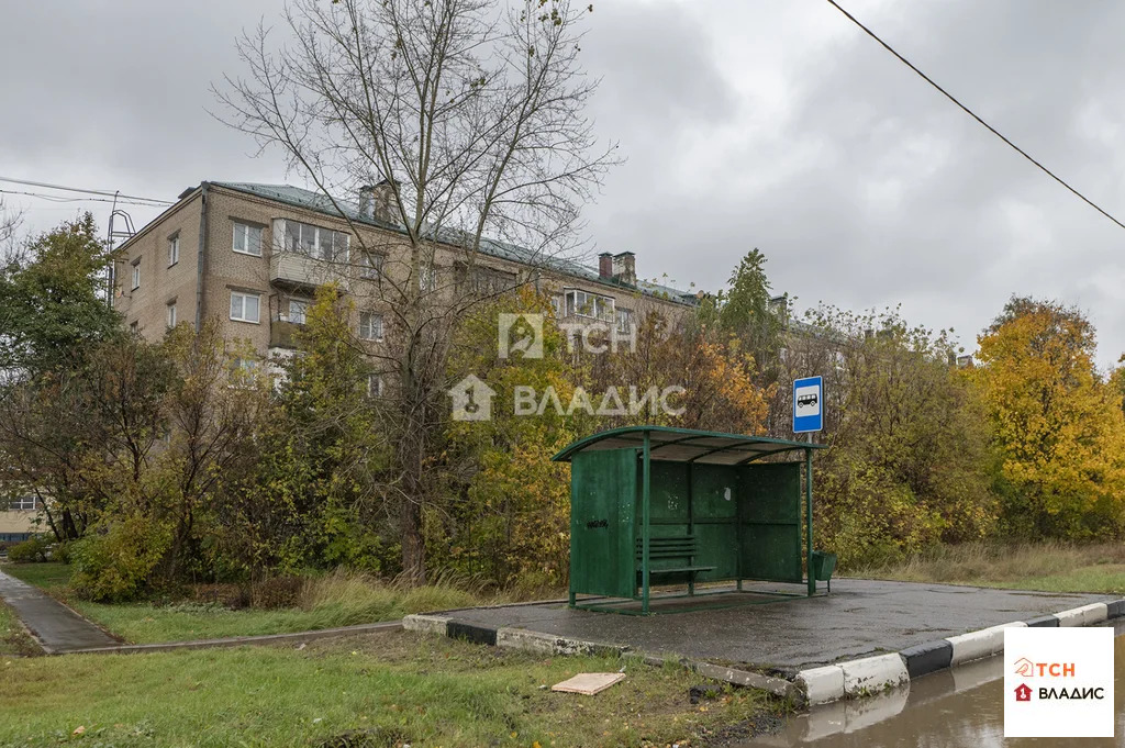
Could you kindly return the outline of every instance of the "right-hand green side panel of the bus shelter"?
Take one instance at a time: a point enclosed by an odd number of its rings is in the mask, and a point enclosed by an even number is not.
[[[802,582],[801,463],[765,462],[741,470],[741,576]]]

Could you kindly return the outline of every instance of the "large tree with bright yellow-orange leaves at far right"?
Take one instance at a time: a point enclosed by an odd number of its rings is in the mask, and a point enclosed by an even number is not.
[[[973,377],[1001,457],[1008,530],[1025,537],[1118,537],[1125,529],[1120,390],[1094,363],[1078,309],[1014,297],[979,339]]]

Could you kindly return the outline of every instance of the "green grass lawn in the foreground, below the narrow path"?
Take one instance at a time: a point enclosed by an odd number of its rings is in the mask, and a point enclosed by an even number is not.
[[[626,681],[596,696],[549,690],[621,667]],[[753,731],[784,709],[729,687],[692,705],[687,691],[701,682],[674,665],[546,658],[403,631],[304,649],[27,658],[0,665],[0,745],[54,746],[78,730],[118,748],[699,746],[722,726]]]

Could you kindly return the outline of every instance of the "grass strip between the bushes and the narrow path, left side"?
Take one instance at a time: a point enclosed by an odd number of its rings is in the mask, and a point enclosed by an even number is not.
[[[394,621],[408,613],[478,604],[468,593],[447,587],[410,592],[372,586],[356,578],[326,577],[302,607],[228,610],[218,604],[102,604],[78,600],[69,588],[72,567],[64,564],[8,564],[2,570],[36,585],[132,643],[251,637],[312,631],[356,623]]]

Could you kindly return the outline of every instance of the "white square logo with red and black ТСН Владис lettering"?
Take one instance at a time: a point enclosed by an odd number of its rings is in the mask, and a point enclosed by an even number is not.
[[[1004,737],[1114,737],[1114,630],[1004,630]]]

